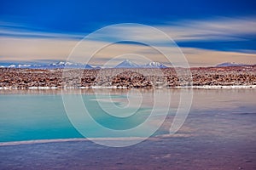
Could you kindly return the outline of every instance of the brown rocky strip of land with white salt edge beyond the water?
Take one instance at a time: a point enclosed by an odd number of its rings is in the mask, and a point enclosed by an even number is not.
[[[189,75],[191,73],[191,75]],[[256,65],[164,69],[0,69],[0,89],[256,87]]]

